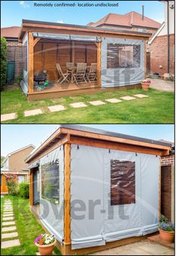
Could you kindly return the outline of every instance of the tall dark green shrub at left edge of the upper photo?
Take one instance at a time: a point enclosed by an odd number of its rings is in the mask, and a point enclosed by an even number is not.
[[[6,84],[7,73],[7,42],[1,37],[1,90]]]

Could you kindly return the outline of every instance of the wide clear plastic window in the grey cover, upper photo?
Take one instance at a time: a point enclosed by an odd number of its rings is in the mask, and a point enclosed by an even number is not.
[[[140,52],[139,44],[108,44],[107,68],[139,68]]]

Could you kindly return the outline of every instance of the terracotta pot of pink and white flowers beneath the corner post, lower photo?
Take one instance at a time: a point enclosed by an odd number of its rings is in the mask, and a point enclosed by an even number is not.
[[[41,255],[52,255],[55,242],[55,236],[47,233],[37,236],[34,240],[34,244],[38,247],[38,251]]]

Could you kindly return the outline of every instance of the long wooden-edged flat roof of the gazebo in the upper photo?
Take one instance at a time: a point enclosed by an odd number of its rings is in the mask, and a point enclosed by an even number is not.
[[[131,31],[131,30],[123,30],[123,29],[109,29],[109,28],[100,28],[100,27],[91,27],[91,26],[81,26],[81,25],[73,25],[73,24],[65,24],[65,23],[52,23],[46,21],[38,21],[38,20],[22,20],[22,26],[19,32],[19,40],[25,35],[25,32],[32,31],[38,32],[43,31],[43,29],[48,29],[49,31],[54,31],[53,33],[67,33],[70,35],[71,33],[83,32],[83,33],[92,33],[95,35],[136,35],[142,36],[144,38],[151,37],[151,33],[148,32],[139,32],[139,31]]]

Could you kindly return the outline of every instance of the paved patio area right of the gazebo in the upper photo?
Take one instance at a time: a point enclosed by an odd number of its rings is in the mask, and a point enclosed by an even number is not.
[[[166,92],[174,92],[175,83],[172,81],[165,81],[163,79],[148,78],[151,80],[150,87],[156,90],[163,90]]]

